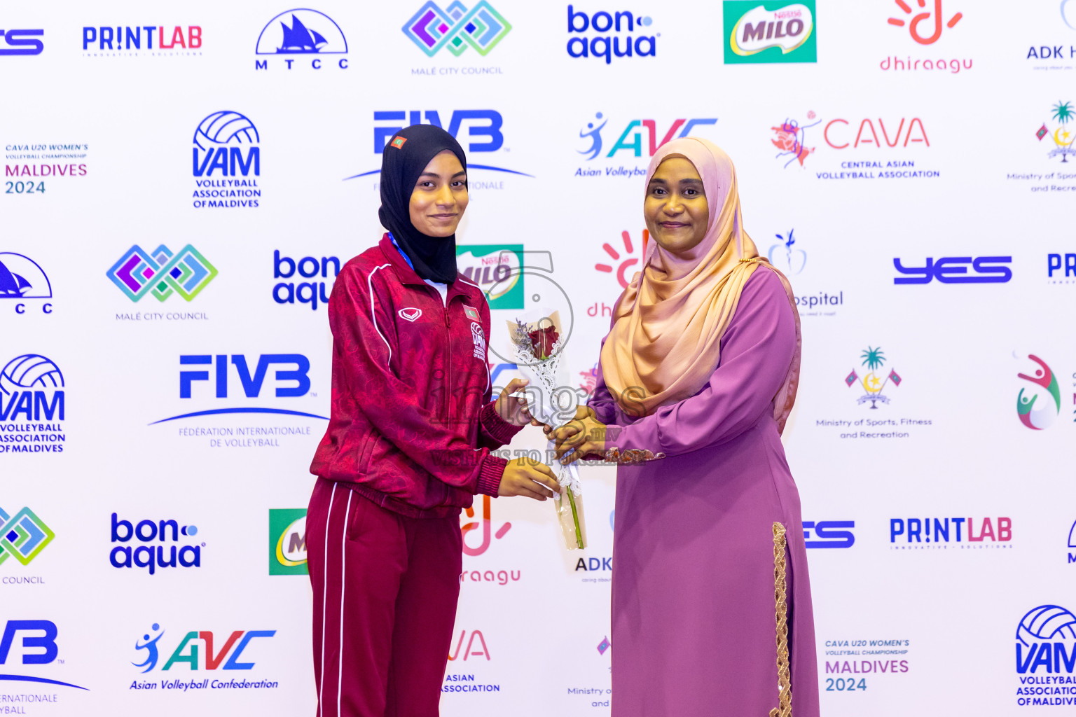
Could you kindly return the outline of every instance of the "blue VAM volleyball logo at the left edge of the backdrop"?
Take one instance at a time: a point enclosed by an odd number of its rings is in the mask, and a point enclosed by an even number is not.
[[[63,374],[40,354],[0,370],[0,453],[63,453]]]

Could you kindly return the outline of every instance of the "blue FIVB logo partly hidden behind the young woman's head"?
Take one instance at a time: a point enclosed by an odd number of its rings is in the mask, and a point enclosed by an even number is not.
[[[498,149],[502,152],[509,150],[509,147],[505,147],[505,134],[501,132],[505,119],[496,110],[453,110],[449,116],[449,126],[447,128],[442,126],[441,114],[437,110],[411,110],[409,112],[405,112],[404,110],[392,112],[374,111],[373,121],[376,123],[373,126],[373,153],[376,155],[384,154],[388,141],[396,132],[404,129],[405,126],[419,125],[423,121],[427,125],[447,129],[449,134],[459,141],[459,144],[465,145],[468,153],[497,152]],[[484,139],[485,141],[477,142],[475,141],[476,139]],[[380,158],[378,161],[380,163]],[[526,172],[518,172],[504,167],[494,167],[478,162],[467,162],[467,170],[468,172],[470,170],[486,170],[534,177],[533,174],[527,174]],[[355,180],[360,176],[370,176],[371,174],[380,173],[380,169],[373,169],[360,174],[346,176],[344,180]]]

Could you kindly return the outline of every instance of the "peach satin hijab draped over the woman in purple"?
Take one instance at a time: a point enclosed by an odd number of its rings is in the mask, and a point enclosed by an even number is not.
[[[774,418],[783,430],[799,382],[799,312],[792,287],[759,256],[744,231],[736,169],[716,144],[693,137],[666,143],[650,160],[646,186],[674,155],[691,161],[703,180],[710,210],[706,235],[681,254],[650,242],[642,271],[613,309],[613,327],[601,348],[606,385],[632,415],[650,415],[697,393],[718,368],[721,338],[744,285],[760,266],[766,267],[780,276],[796,322],[796,349],[774,397]]]

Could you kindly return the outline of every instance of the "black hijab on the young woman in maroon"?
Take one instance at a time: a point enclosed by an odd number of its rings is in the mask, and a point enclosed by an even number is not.
[[[456,281],[456,235],[427,236],[411,224],[409,205],[419,175],[429,160],[448,149],[454,154],[464,171],[467,157],[455,138],[440,127],[411,125],[393,135],[381,158],[382,226],[414,264],[414,273],[442,284]]]

